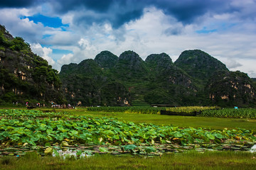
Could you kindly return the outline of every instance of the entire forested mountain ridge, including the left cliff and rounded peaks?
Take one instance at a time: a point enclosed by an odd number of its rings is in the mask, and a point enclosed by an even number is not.
[[[230,72],[201,50],[186,50],[176,62],[166,53],[142,60],[102,51],[95,60],[65,64],[60,73],[33,54],[23,38],[0,26],[0,104],[80,106],[256,106],[255,79]]]

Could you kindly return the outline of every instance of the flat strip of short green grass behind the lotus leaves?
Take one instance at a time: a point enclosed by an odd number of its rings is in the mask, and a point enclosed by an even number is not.
[[[245,128],[256,130],[256,120],[247,118],[211,118],[193,117],[178,115],[146,115],[136,113],[111,113],[111,112],[92,112],[85,109],[56,109],[56,111],[66,111],[75,115],[91,115],[93,117],[112,117],[119,120],[132,121],[134,123],[153,123],[156,125],[174,125],[181,128],[210,128],[222,130],[223,128]]]

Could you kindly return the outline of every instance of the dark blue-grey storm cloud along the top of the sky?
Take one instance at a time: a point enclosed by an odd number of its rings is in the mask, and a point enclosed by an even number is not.
[[[93,22],[108,21],[114,28],[140,18],[144,8],[150,6],[160,8],[164,13],[174,16],[183,24],[200,22],[196,19],[205,13],[233,13],[240,10],[239,7],[235,8],[230,5],[232,0],[2,0],[0,6],[27,7],[45,2],[53,6],[54,13],[60,15],[80,11],[76,13],[78,16],[75,16],[75,23],[91,25]],[[93,11],[95,15],[87,15],[87,11]]]

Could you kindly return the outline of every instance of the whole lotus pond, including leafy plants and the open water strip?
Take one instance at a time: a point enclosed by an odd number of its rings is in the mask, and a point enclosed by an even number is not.
[[[90,157],[97,153],[154,156],[190,149],[249,151],[255,130],[178,128],[65,112],[0,110],[0,155],[25,152]]]

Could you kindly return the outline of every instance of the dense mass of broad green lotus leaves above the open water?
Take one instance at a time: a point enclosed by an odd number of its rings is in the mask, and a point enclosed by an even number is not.
[[[125,122],[42,111],[0,110],[0,141],[4,145],[203,145],[255,142],[255,131],[206,130]],[[66,145],[66,144],[65,144]]]

